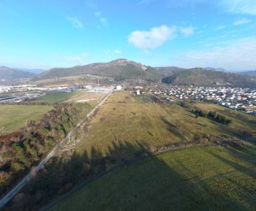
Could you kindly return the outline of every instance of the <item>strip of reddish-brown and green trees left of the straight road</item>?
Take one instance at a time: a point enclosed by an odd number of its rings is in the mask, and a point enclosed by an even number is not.
[[[91,109],[89,104],[56,105],[40,122],[29,121],[22,131],[0,137],[0,194],[36,166]]]

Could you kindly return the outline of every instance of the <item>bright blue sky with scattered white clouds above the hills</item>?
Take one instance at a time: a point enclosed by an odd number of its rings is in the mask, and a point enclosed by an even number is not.
[[[256,70],[256,0],[0,0],[0,65]]]

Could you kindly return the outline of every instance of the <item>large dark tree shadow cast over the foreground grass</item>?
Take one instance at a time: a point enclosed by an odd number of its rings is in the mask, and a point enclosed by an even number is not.
[[[133,153],[133,159],[127,160],[125,152]],[[91,154],[74,153],[70,159],[55,157],[8,209],[38,210],[70,190],[73,191],[64,195],[54,210],[245,209],[221,190],[211,190],[196,175],[188,177],[193,172],[181,160],[178,161],[183,170],[178,171],[172,162],[167,164],[161,157],[143,159],[152,156],[143,142],[113,142],[107,155],[95,148]],[[95,178],[97,182],[93,182]]]

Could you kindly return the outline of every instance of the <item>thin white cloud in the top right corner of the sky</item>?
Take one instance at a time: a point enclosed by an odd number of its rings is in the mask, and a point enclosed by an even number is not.
[[[219,0],[219,2],[227,12],[256,15],[255,0]]]

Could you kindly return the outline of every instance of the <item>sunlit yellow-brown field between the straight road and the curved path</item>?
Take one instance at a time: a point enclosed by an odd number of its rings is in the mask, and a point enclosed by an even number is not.
[[[154,103],[155,102],[155,103]],[[221,108],[218,105],[211,105]],[[195,106],[195,105],[193,105]],[[196,104],[200,106],[200,104]],[[210,107],[207,109],[211,109]],[[242,117],[244,114],[241,114]],[[145,143],[155,150],[159,146],[173,143],[207,143],[237,139],[234,128],[256,132],[255,118],[251,125],[244,125],[239,113],[233,115],[234,122],[223,125],[209,118],[195,118],[191,109],[175,103],[163,103],[154,96],[132,96],[131,93],[113,93],[88,125],[88,132],[81,134],[77,152],[98,150],[103,155],[113,151],[117,143]],[[132,150],[116,152],[117,157],[133,155]]]

